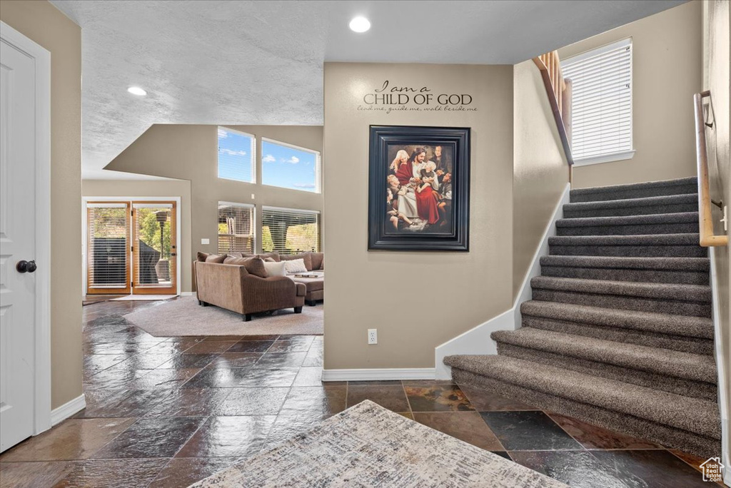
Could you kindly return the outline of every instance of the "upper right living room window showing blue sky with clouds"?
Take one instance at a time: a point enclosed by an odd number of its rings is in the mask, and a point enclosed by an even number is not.
[[[319,152],[262,137],[262,184],[319,193]]]

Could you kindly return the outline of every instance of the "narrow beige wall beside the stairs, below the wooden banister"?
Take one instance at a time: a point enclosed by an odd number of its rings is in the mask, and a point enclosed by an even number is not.
[[[569,183],[569,164],[536,64],[513,66],[512,295]]]

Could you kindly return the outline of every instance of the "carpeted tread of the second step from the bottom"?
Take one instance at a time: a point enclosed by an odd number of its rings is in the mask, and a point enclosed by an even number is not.
[[[498,343],[546,351],[562,356],[621,366],[631,370],[659,373],[705,383],[716,383],[713,357],[669,349],[617,343],[532,327],[499,330],[491,334]]]

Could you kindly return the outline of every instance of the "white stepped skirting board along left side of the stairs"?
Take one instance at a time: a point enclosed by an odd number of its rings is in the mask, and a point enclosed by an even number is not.
[[[515,330],[520,328],[523,318],[520,316],[520,304],[531,300],[531,278],[541,274],[540,259],[542,256],[548,256],[548,237],[556,235],[556,221],[564,218],[564,205],[569,203],[571,185],[567,183],[561,199],[558,200],[556,208],[553,209],[553,216],[543,231],[541,243],[533,255],[533,262],[525,277],[523,284],[520,286],[518,296],[512,308],[501,313],[499,316],[493,317],[477,327],[469,329],[458,335],[456,338],[447,340],[434,348],[434,369],[435,377],[438,380],[448,380],[452,378],[452,368],[444,364],[444,357],[453,354],[497,354],[497,346],[495,341],[490,338],[492,332],[496,330]]]

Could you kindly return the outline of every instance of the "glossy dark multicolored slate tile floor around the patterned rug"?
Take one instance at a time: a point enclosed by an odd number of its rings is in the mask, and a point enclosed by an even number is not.
[[[572,487],[707,487],[703,460],[450,381],[322,384],[322,337],[155,338],[83,308],[86,409],[0,456],[10,487],[185,487],[373,400]],[[265,320],[265,319],[261,319]]]

